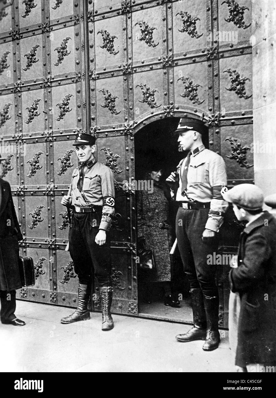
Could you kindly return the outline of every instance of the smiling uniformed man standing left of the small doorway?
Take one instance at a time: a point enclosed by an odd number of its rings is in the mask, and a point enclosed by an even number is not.
[[[62,318],[68,324],[90,319],[87,309],[93,271],[99,283],[102,303],[102,330],[113,328],[111,316],[112,279],[109,229],[114,215],[115,189],[113,172],[94,157],[95,137],[79,133],[73,144],[80,167],[72,175],[70,195],[61,204],[72,205],[69,251],[79,278],[78,308]]]

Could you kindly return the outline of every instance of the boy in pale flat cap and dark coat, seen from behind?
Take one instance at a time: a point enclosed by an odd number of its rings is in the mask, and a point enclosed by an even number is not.
[[[276,365],[276,220],[262,211],[264,197],[256,185],[240,184],[223,196],[237,219],[248,221],[229,273],[230,289],[241,300],[235,365],[247,372],[250,364]]]

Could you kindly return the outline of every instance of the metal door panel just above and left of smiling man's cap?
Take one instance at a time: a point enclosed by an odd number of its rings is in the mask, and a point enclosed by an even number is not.
[[[62,107],[68,110],[62,111]],[[52,118],[56,131],[72,130],[76,127],[76,84],[52,88]]]

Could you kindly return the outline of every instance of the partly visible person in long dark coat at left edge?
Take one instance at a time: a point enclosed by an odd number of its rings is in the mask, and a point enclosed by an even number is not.
[[[4,160],[3,158],[0,158]],[[25,325],[18,319],[16,289],[22,287],[19,274],[19,245],[22,240],[8,181],[0,178],[0,320],[2,324]]]

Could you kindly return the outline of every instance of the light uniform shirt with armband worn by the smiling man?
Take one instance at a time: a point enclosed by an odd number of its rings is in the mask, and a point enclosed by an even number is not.
[[[99,229],[109,230],[111,227],[111,216],[115,213],[115,188],[114,176],[111,169],[99,162],[88,162],[84,166],[84,184],[82,192],[78,190],[77,184],[80,178],[79,168],[74,169],[72,174],[72,205],[75,207],[89,207],[89,205],[102,206],[103,215]],[[106,213],[106,215],[104,214]]]

